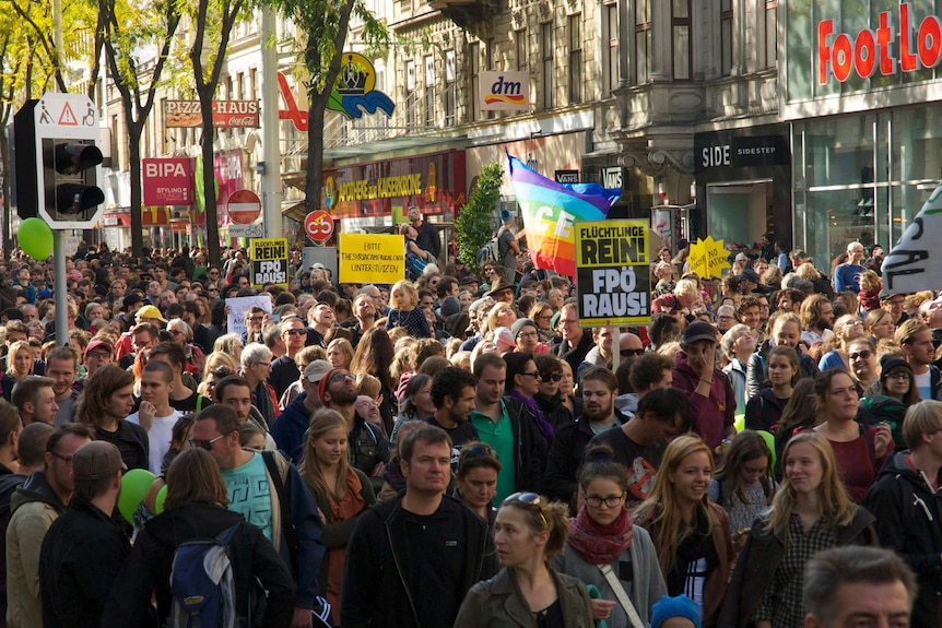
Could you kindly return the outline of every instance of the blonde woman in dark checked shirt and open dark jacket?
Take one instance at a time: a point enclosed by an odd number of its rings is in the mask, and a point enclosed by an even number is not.
[[[753,523],[733,572],[720,614],[723,628],[801,628],[804,566],[812,555],[879,544],[873,516],[850,500],[826,438],[798,434],[784,459],[781,487]]]

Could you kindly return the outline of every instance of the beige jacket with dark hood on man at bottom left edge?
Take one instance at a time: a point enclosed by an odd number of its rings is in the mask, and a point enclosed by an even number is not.
[[[43,538],[66,505],[49,486],[46,474],[33,473],[10,498],[13,517],[7,528],[7,625],[43,625],[39,604],[39,552]]]

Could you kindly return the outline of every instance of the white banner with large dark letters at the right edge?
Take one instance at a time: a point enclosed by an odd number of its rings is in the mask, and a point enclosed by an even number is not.
[[[935,188],[883,260],[883,293],[892,295],[942,288],[940,238],[942,186]]]

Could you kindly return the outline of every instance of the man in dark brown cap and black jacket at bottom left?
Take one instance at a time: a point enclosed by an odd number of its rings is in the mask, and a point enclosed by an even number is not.
[[[98,626],[105,601],[130,552],[111,519],[121,491],[121,453],[110,442],[83,445],[72,455],[75,491],[46,533],[39,554],[43,626]]]

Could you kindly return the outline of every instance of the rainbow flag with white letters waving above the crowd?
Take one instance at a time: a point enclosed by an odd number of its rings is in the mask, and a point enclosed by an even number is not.
[[[523,213],[527,247],[538,269],[576,275],[577,221],[603,221],[622,195],[598,183],[557,183],[507,153],[510,182]]]

